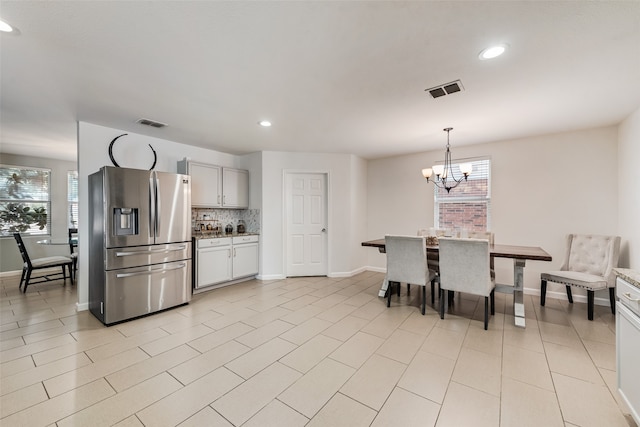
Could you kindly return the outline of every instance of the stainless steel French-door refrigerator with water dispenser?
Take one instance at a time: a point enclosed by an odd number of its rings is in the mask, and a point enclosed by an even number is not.
[[[110,325],[188,303],[190,176],[104,166],[89,197],[89,310]]]

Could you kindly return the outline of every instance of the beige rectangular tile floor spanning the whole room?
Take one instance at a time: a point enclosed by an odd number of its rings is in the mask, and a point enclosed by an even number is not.
[[[104,327],[74,286],[0,281],[0,425],[635,426],[616,392],[615,318],[467,295],[440,320],[382,274],[248,281]],[[58,282],[61,283],[61,282]]]

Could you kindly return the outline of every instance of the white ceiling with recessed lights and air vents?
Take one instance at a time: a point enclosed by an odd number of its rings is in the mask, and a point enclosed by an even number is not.
[[[640,106],[639,1],[3,0],[0,16],[21,33],[0,35],[7,153],[74,159],[86,121],[233,154],[371,159],[444,148],[448,126],[455,150]],[[510,49],[478,60],[496,42]],[[424,92],[456,79],[464,92]]]

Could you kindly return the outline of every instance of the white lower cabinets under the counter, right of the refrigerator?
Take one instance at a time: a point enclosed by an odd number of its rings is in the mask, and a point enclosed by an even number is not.
[[[257,235],[196,240],[195,288],[258,274]]]

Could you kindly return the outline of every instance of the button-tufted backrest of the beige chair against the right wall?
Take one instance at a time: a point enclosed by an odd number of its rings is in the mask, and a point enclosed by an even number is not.
[[[615,286],[613,269],[618,266],[620,236],[569,234],[565,260],[560,270],[602,276],[609,287]]]

